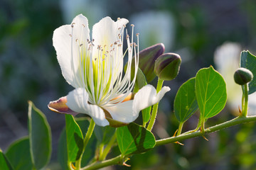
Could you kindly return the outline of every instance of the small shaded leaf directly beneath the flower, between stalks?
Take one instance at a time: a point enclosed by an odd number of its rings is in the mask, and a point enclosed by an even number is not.
[[[110,142],[111,137],[114,135],[116,128],[112,128],[111,126],[98,126],[95,125],[95,137],[100,143],[103,143],[106,145],[108,142]]]

